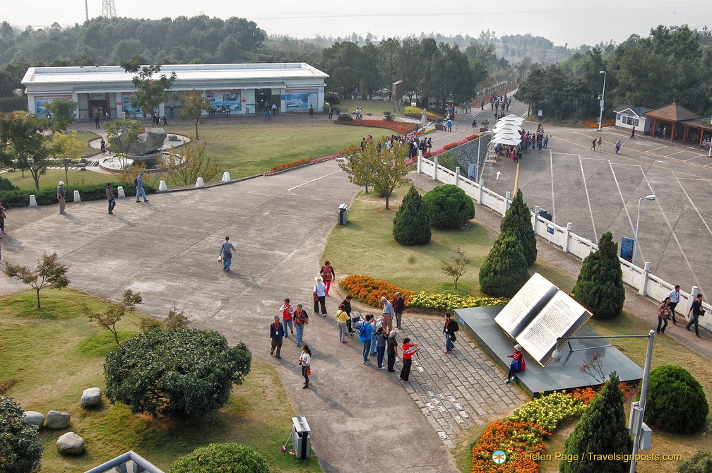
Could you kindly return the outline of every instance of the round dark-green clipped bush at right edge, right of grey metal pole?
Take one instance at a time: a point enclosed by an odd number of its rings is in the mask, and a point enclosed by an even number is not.
[[[645,421],[666,432],[691,434],[705,426],[709,405],[701,384],[681,366],[664,365],[650,373]]]

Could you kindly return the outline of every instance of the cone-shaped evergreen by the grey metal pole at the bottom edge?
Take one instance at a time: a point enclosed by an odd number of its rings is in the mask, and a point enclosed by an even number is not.
[[[611,373],[608,382],[584,411],[564,445],[564,454],[578,454],[578,459],[572,462],[562,461],[559,464],[560,472],[624,473],[629,470],[629,461],[597,459],[589,455],[628,455],[633,450],[619,382],[618,375]],[[581,455],[582,452],[586,452],[586,455]]]

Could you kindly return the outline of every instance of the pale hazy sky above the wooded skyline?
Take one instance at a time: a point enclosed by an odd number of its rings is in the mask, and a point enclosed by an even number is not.
[[[100,16],[102,0],[88,1],[89,17]],[[46,26],[57,21],[73,25],[85,21],[85,0],[3,1],[0,19],[15,26]],[[368,32],[382,36],[426,33],[497,36],[531,33],[557,46],[620,43],[632,33],[647,36],[651,28],[688,24],[712,28],[710,0],[114,0],[117,16],[164,18],[206,14],[255,21],[268,34],[298,38],[347,36]],[[58,7],[61,5],[61,7]],[[396,5],[402,6],[394,11]]]

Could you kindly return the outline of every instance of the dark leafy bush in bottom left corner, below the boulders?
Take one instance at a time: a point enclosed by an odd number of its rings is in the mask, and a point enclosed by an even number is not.
[[[0,472],[39,473],[42,441],[13,400],[0,396]]]

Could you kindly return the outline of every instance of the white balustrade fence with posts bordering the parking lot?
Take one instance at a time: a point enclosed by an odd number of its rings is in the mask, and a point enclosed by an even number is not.
[[[506,214],[512,203],[511,192],[508,192],[506,196],[501,196],[483,186],[482,181],[477,183],[460,176],[459,168],[453,172],[450,169],[440,166],[438,164],[437,156],[435,156],[434,161],[418,156],[417,169],[419,174],[425,174],[435,181],[439,181],[443,184],[454,184],[455,186],[458,186],[465,191],[465,193],[470,196],[473,201],[481,206],[489,208],[491,211],[499,213],[501,216]],[[556,225],[555,223],[552,223],[540,216],[538,207],[535,207],[534,212],[532,213],[532,225],[534,233],[538,237],[544,238],[552,245],[561,248],[561,250],[565,253],[580,257],[581,260],[590,255],[592,252],[598,250],[598,245],[594,242],[588,238],[584,238],[573,233],[571,223],[567,223],[566,227]],[[623,272],[623,282],[637,289],[639,294],[642,296],[649,296],[656,301],[661,301],[671,292],[672,289],[674,289],[674,285],[669,284],[669,282],[665,282],[660,277],[657,277],[650,272],[649,262],[645,263],[645,267],[640,268],[620,257],[619,260],[621,263],[621,270]],[[686,315],[690,308],[690,304],[694,299],[691,294],[696,295],[697,292],[698,287],[696,286],[693,286],[690,292],[681,290],[679,311],[677,312]],[[712,313],[712,306],[710,304],[703,302],[702,305],[708,314]],[[654,319],[655,312],[655,309],[651,309],[651,319]],[[712,321],[700,318],[699,324],[708,330],[712,330]]]

